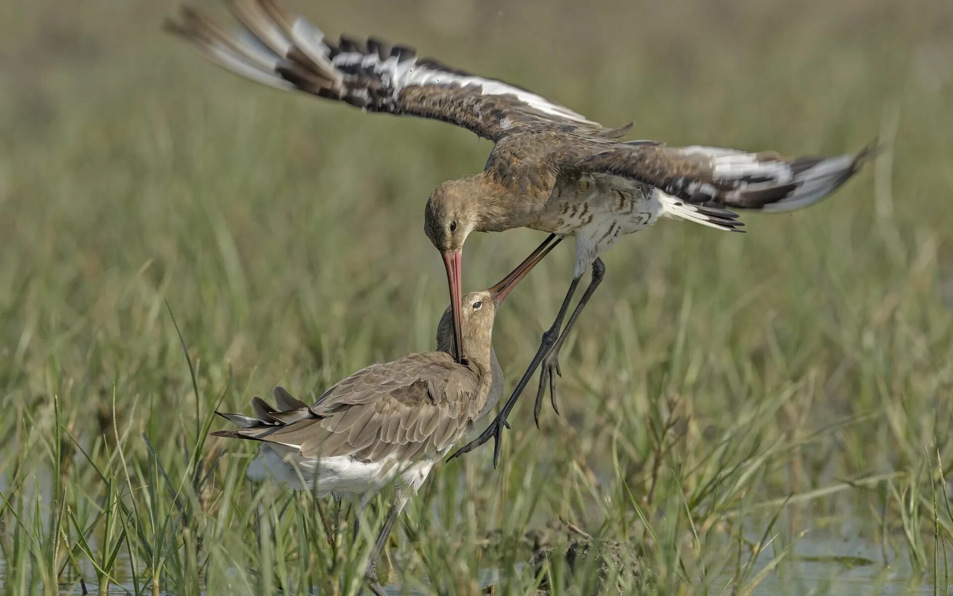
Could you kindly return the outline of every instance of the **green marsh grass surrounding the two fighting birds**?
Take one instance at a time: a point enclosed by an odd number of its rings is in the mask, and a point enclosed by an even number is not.
[[[395,592],[946,593],[953,4],[290,8],[639,138],[890,142],[747,235],[620,242],[563,353],[562,416],[537,430],[525,398],[500,469],[489,449],[437,466],[378,567]],[[431,349],[424,200],[490,145],[239,80],[159,31],[176,9],[14,0],[0,21],[0,584],[355,594],[385,509],[351,541],[346,508],[335,531],[330,501],[247,482],[253,445],[206,440],[210,414]],[[475,236],[468,289],[540,238]],[[571,267],[561,247],[497,319],[511,384]],[[623,555],[531,564],[555,524]]]

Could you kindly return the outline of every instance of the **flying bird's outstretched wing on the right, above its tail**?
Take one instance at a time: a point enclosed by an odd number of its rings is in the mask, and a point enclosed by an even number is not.
[[[873,149],[870,145],[857,154],[785,159],[773,152],[666,147],[652,141],[591,147],[562,155],[560,165],[638,180],[689,203],[772,212],[820,201],[854,175]]]

